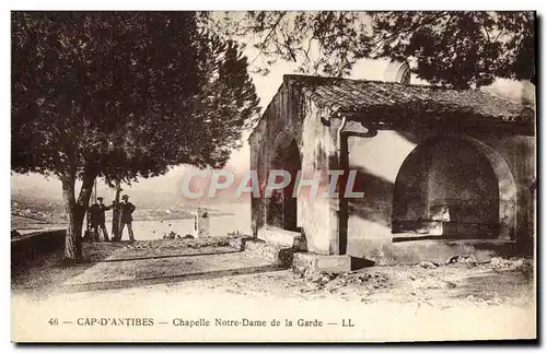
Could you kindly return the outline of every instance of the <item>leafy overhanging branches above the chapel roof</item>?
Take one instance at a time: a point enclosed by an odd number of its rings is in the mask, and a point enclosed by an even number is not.
[[[454,87],[499,78],[535,83],[534,12],[247,12],[211,16],[255,46],[257,71],[277,60],[305,73],[347,75],[362,58],[406,59],[417,77]],[[312,55],[314,54],[314,55]]]

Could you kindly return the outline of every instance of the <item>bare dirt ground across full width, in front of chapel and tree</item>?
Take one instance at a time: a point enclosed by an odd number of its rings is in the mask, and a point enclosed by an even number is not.
[[[237,243],[235,243],[237,244]],[[373,302],[451,302],[524,305],[534,298],[532,262],[372,267],[350,274],[296,274],[231,239],[162,239],[85,244],[88,262],[62,266],[55,256],[12,278],[12,289],[79,292],[178,283],[201,279],[217,286],[279,296],[335,296]],[[270,272],[270,273],[265,273]],[[240,274],[240,276],[237,276]],[[251,275],[241,275],[251,274]],[[230,281],[225,282],[225,281]]]

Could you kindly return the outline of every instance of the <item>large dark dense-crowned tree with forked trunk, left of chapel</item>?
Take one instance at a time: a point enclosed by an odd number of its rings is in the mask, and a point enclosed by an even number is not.
[[[200,14],[12,13],[12,169],[61,180],[67,259],[95,178],[222,166],[257,111],[246,58]]]

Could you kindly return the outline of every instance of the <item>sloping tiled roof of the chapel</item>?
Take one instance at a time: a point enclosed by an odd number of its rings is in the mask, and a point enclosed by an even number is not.
[[[284,81],[334,113],[395,119],[410,116],[465,116],[507,122],[534,119],[533,107],[479,90],[306,75],[286,75]]]

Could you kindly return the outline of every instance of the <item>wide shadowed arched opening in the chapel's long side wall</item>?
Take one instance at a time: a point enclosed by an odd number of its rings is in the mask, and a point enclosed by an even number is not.
[[[516,187],[505,162],[467,137],[417,146],[394,188],[393,233],[454,238],[509,238],[516,221]]]

